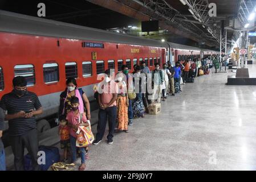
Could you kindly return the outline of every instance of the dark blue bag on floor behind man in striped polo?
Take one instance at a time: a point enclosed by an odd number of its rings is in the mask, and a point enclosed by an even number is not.
[[[47,171],[48,168],[54,163],[60,162],[59,148],[57,147],[48,147],[48,146],[39,146],[38,151],[45,152],[45,164],[40,164],[40,169],[42,171]],[[26,171],[32,170],[31,156],[29,154],[24,156],[24,168]]]

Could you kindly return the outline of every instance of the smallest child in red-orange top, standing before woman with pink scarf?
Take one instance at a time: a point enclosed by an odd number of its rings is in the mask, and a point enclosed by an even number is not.
[[[64,150],[64,160],[63,162],[67,162],[67,152],[70,148],[70,131],[67,126],[68,121],[64,115],[61,115],[59,118],[59,135],[60,135],[60,148]]]

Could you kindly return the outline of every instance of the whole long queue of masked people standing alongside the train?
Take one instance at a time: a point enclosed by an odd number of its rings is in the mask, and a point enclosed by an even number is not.
[[[209,60],[209,59],[208,59]],[[213,61],[214,63],[214,61]],[[176,93],[182,92],[181,79],[184,84],[188,77],[197,77],[200,69],[209,69],[210,62],[186,60],[183,64],[177,61],[175,66],[155,64],[151,71],[145,62],[134,65],[134,72],[129,74],[127,65],[112,78],[111,70],[105,71],[104,81],[97,86],[95,94],[99,104],[97,133],[92,144],[97,145],[103,140],[108,122],[107,143],[113,143],[116,131],[128,133],[128,126],[133,125],[133,118],[144,118],[149,112],[149,104],[160,103]],[[0,170],[5,170],[5,153],[2,144],[3,122],[9,121],[9,135],[14,154],[14,166],[18,171],[24,170],[24,150],[29,151],[32,169],[39,170],[38,133],[35,116],[43,113],[42,105],[35,93],[27,90],[25,77],[13,78],[13,91],[5,94],[0,103]],[[7,114],[5,114],[7,111]],[[90,126],[90,102],[86,93],[78,89],[75,78],[68,78],[66,89],[60,94],[59,105],[60,147],[64,151],[64,162],[71,153],[72,163],[81,158],[79,170],[86,169],[88,146],[78,147],[78,130],[80,126]]]

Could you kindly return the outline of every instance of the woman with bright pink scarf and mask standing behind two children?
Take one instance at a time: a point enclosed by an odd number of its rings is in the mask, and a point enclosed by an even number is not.
[[[59,115],[67,115],[68,112],[72,110],[71,106],[71,98],[78,97],[79,98],[79,111],[80,113],[86,112],[86,117],[88,120],[91,119],[91,111],[90,111],[90,102],[86,96],[86,93],[83,92],[82,89],[78,89],[78,84],[76,84],[75,78],[68,78],[66,81],[67,88],[60,94],[60,107],[59,107]],[[84,106],[86,107],[86,111],[84,110]]]

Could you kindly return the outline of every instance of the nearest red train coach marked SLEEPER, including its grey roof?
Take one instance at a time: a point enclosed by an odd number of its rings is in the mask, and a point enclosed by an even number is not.
[[[25,76],[44,108],[40,118],[58,111],[68,77],[75,77],[93,100],[92,88],[105,69],[118,72],[127,64],[132,72],[144,60],[152,70],[166,61],[167,45],[156,40],[7,11],[0,11],[0,21],[0,97],[13,89],[13,77]]]

